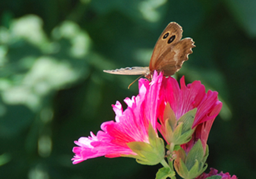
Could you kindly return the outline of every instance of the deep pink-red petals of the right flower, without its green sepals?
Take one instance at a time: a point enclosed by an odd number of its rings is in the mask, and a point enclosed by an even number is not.
[[[184,77],[180,79],[179,87],[175,79],[168,77],[163,79],[159,94],[161,100],[159,102],[159,120],[161,125],[158,125],[157,128],[161,134],[164,136],[166,132],[164,131],[166,119],[163,119],[163,112],[167,103],[170,104],[177,120],[191,109],[197,108],[192,126],[192,128],[196,127],[193,139],[189,143],[183,144],[182,148],[188,152],[193,144],[201,139],[205,150],[212,123],[222,107],[222,103],[218,100],[218,93],[211,90],[205,93],[205,87],[200,81],[194,81],[186,86]]]

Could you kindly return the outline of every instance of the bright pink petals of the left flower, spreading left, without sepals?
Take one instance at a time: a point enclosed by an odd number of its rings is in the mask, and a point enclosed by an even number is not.
[[[123,111],[120,102],[113,106],[116,117],[115,121],[102,123],[101,129],[95,136],[91,132],[89,137],[81,137],[74,143],[75,153],[73,164],[95,157],[121,157],[129,155],[136,158],[137,153],[133,152],[127,144],[132,142],[143,142],[149,144],[148,125],[154,128],[157,136],[157,103],[163,75],[154,74],[152,81],[140,79],[139,95],[137,97],[125,98],[127,109]],[[164,153],[163,153],[164,156]]]

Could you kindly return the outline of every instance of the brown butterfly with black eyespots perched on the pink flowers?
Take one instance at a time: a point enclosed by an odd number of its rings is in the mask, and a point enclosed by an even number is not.
[[[148,79],[151,79],[154,70],[157,70],[158,73],[163,72],[164,76],[173,75],[180,70],[184,61],[188,60],[188,55],[193,52],[192,48],[195,47],[192,38],[180,40],[182,32],[182,27],[179,24],[170,22],[157,40],[147,67],[134,66],[103,71],[116,75],[145,75]]]

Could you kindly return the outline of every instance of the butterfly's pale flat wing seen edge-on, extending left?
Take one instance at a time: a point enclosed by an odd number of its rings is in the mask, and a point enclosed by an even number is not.
[[[108,74],[116,74],[116,75],[145,75],[145,76],[147,76],[148,74],[150,74],[148,66],[147,67],[134,66],[134,67],[120,68],[120,69],[116,69],[116,70],[103,70],[103,72],[106,72]]]

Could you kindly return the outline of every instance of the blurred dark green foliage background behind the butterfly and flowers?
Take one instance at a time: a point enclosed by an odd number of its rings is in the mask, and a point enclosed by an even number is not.
[[[3,0],[0,12],[0,178],[154,178],[161,166],[134,159],[70,159],[74,140],[115,119],[111,104],[138,94],[136,77],[102,70],[148,66],[171,21],[196,45],[176,77],[224,104],[209,167],[255,178],[255,0]]]

